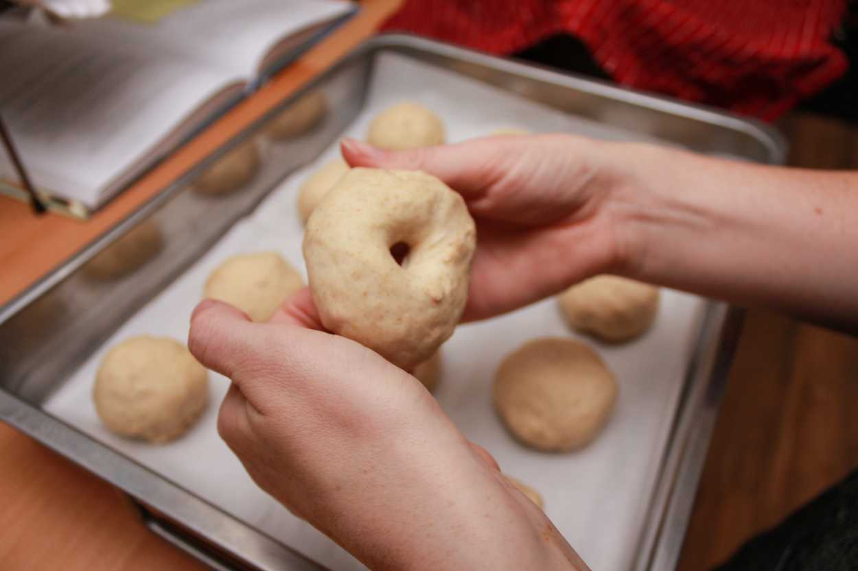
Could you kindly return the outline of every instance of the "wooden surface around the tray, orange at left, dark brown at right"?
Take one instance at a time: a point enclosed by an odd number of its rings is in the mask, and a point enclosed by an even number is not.
[[[366,0],[346,27],[302,57],[134,188],[83,224],[35,219],[0,198],[0,304],[21,292],[241,126],[372,34],[399,0]],[[858,131],[813,117],[783,124],[791,162],[858,166]],[[858,340],[749,312],[706,461],[680,569],[722,562],[753,533],[858,466]],[[0,424],[0,569],[204,569],[141,525],[112,486]]]

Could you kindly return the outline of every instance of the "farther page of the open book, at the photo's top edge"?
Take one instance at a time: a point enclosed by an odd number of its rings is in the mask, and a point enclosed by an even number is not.
[[[344,0],[201,0],[150,25],[107,17],[79,22],[77,28],[158,44],[189,61],[251,79],[281,39],[353,9]]]

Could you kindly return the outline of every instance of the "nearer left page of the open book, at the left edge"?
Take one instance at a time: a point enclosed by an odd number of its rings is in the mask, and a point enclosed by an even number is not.
[[[89,207],[190,111],[235,80],[156,44],[144,49],[15,21],[0,21],[0,78],[0,113],[33,183]],[[13,172],[0,152],[0,176],[17,180]]]

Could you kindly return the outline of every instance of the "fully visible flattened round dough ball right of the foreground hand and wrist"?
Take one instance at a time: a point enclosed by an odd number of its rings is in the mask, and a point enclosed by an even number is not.
[[[513,436],[530,447],[582,448],[599,433],[617,400],[617,383],[580,341],[529,341],[500,364],[494,406]]]

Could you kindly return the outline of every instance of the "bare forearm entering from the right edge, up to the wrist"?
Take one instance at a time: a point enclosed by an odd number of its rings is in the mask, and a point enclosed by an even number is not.
[[[620,273],[858,328],[858,173],[610,152]]]

